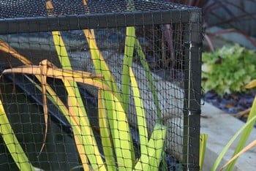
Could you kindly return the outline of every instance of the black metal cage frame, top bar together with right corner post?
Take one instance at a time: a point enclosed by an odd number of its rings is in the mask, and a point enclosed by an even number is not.
[[[118,3],[120,1],[110,1]],[[0,14],[0,34],[31,33],[38,31],[65,31],[83,28],[111,28],[168,23],[184,23],[184,170],[199,170],[200,144],[200,82],[202,52],[202,11],[166,1],[135,0],[137,4],[158,4],[162,9],[139,9],[133,11],[93,12],[48,17],[15,15],[3,18]],[[93,1],[91,2],[93,3]],[[0,9],[4,8],[1,7]]]

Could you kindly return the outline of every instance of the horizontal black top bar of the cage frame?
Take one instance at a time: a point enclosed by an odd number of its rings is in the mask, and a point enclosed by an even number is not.
[[[63,15],[52,17],[0,18],[0,34],[18,34],[40,31],[66,31],[85,28],[113,28],[147,24],[188,23],[187,10],[146,12],[116,12],[107,14]],[[114,20],[113,20],[114,19]]]

